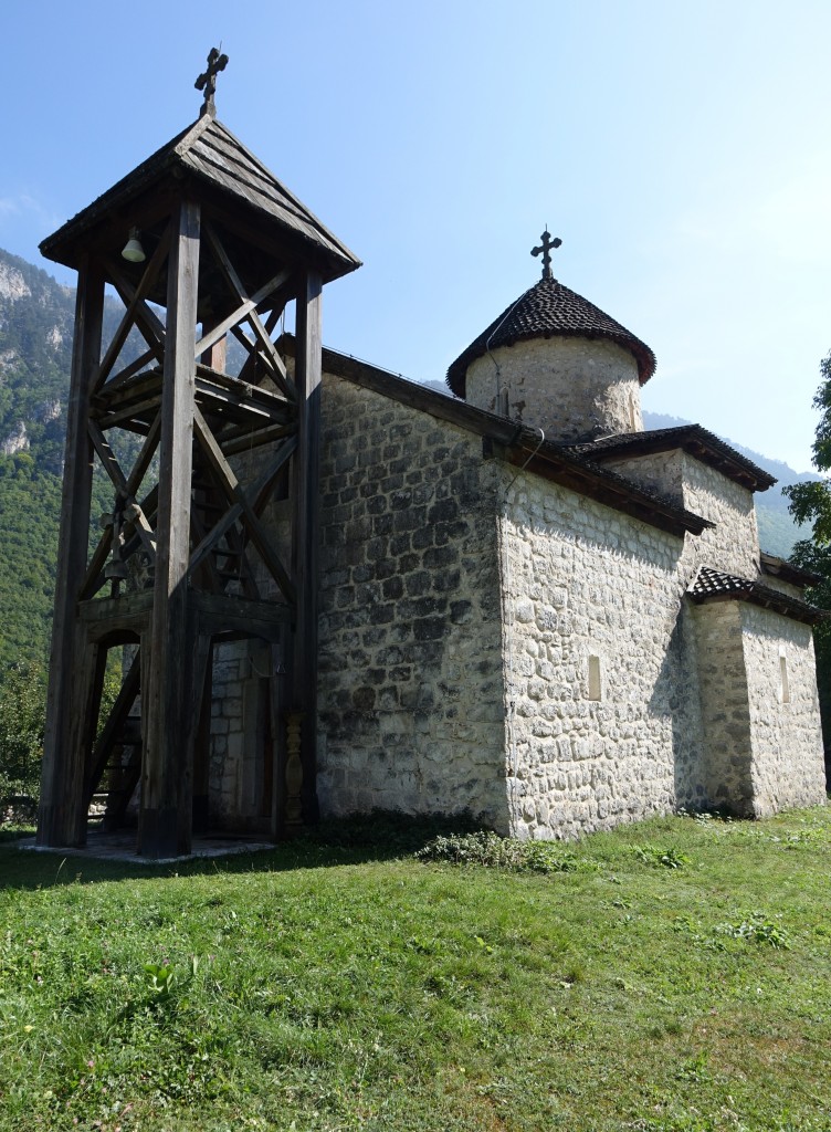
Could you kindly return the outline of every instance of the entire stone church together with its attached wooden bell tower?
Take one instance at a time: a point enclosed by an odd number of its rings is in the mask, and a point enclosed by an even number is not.
[[[154,858],[318,813],[571,838],[822,803],[823,615],[759,546],[772,478],[699,426],[644,430],[654,355],[552,277],[547,232],[447,395],[322,350],[322,288],[360,264],[216,120],[226,61],[41,246],[79,286],[40,842],[83,844],[102,796]]]

